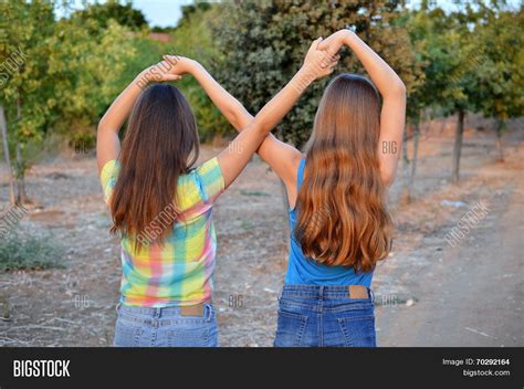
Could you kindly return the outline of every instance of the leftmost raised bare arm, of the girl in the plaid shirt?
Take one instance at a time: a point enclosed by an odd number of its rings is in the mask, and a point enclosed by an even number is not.
[[[161,82],[181,78],[179,74],[167,72],[169,66],[170,65],[164,61],[140,72],[118,95],[118,97],[116,97],[102,117],[96,133],[96,161],[98,165],[98,172],[102,171],[104,165],[109,160],[118,158],[120,153],[118,132],[127,116],[129,116],[129,113],[143,88],[147,86],[150,81]]]

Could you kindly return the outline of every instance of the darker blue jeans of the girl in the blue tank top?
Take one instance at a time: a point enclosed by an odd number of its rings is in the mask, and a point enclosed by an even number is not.
[[[376,347],[373,292],[349,298],[338,285],[284,285],[275,347]]]

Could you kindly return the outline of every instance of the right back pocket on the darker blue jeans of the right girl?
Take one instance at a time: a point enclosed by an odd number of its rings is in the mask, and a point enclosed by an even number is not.
[[[377,347],[375,316],[339,317],[346,347]]]

